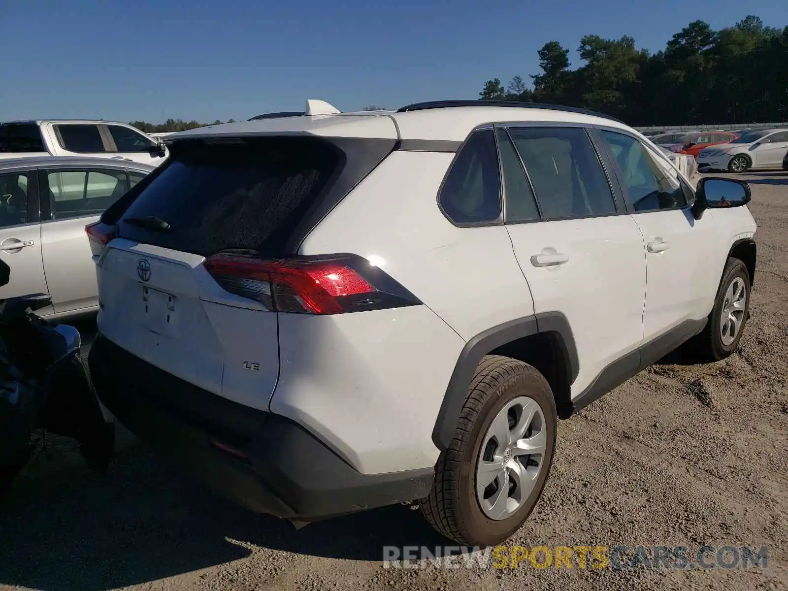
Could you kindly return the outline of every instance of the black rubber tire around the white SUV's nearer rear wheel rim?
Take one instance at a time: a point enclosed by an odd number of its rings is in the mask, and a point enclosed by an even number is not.
[[[548,443],[541,472],[522,507],[507,519],[489,519],[476,496],[477,459],[490,423],[507,402],[518,396],[529,396],[541,407]],[[545,488],[556,447],[556,422],[556,401],[542,374],[509,357],[482,358],[452,443],[435,466],[433,489],[421,504],[429,524],[461,545],[484,547],[511,537],[533,511]]]

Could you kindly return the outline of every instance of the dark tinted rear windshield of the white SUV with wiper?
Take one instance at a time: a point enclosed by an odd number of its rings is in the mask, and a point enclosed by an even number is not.
[[[195,255],[226,249],[277,255],[344,160],[340,149],[317,138],[198,141],[175,150],[128,206],[120,235]],[[151,217],[169,229],[129,222]]]

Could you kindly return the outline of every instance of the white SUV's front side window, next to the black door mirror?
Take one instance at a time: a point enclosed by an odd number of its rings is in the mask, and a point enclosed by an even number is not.
[[[658,164],[642,143],[623,133],[603,131],[601,134],[619,165],[622,184],[635,210],[668,210],[686,205],[678,178]]]

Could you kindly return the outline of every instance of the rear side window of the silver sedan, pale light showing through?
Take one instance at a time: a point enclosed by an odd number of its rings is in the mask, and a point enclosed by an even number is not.
[[[128,191],[123,170],[67,170],[47,173],[46,179],[54,220],[100,215]]]

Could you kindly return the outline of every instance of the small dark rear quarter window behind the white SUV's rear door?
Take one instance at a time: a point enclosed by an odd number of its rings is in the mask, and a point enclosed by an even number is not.
[[[500,169],[492,129],[474,132],[440,189],[440,206],[458,224],[500,218]]]

